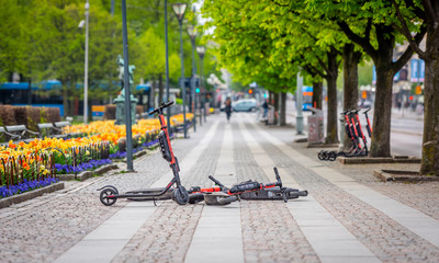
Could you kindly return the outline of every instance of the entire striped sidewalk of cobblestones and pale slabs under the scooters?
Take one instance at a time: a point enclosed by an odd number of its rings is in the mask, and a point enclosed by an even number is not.
[[[210,186],[245,180],[308,190],[289,201],[179,206],[119,199],[105,207],[95,190],[165,186],[169,165],[158,151],[113,172],[0,210],[2,262],[439,262],[439,183],[381,183],[372,169],[319,162],[295,144],[291,127],[268,127],[256,114],[212,115],[172,141],[182,182]]]

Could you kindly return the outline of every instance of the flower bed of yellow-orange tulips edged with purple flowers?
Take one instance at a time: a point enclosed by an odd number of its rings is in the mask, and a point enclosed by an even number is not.
[[[187,114],[191,121],[192,114]],[[182,114],[172,116],[171,126],[183,123]],[[133,152],[157,145],[160,130],[158,119],[140,119],[133,125]],[[58,182],[57,173],[79,173],[124,158],[121,140],[126,137],[124,125],[113,121],[99,121],[88,125],[74,125],[70,133],[87,135],[82,138],[34,139],[0,146],[0,198],[20,194]]]

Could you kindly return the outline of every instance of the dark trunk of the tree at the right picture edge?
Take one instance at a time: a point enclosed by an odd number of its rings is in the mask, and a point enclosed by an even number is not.
[[[431,4],[432,7],[434,4]],[[436,5],[439,8],[438,5]],[[420,174],[439,175],[439,10],[427,22],[424,137]]]

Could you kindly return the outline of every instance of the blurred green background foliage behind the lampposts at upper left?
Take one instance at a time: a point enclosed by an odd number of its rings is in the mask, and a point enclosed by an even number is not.
[[[169,69],[171,82],[176,82],[181,69],[180,36],[172,2],[177,0],[168,1]],[[63,82],[63,92],[58,95],[64,98],[67,112],[75,99],[83,99],[83,89],[77,88],[77,83],[83,83],[85,76],[86,35],[85,28],[78,27],[85,20],[83,3],[82,0],[0,0],[3,21],[0,24],[0,82],[15,71],[32,77],[34,82],[58,79]],[[121,2],[115,1],[114,16],[110,8],[110,0],[90,1],[90,101],[114,98],[120,89],[115,60],[123,54]],[[135,84],[155,75],[165,77],[164,1],[128,1],[127,21],[130,64],[137,68]],[[183,28],[185,76],[191,72],[188,39]]]

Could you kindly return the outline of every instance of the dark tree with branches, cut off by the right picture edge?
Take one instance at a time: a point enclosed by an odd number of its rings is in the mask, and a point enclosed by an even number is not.
[[[421,59],[425,60],[424,88],[424,137],[420,174],[439,175],[439,2],[391,1],[396,10],[398,23],[395,28],[402,33]],[[421,20],[427,32],[426,48],[423,50],[413,37],[414,21]]]

